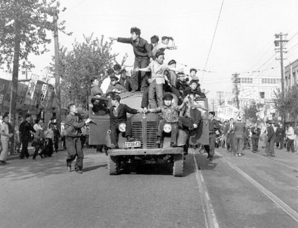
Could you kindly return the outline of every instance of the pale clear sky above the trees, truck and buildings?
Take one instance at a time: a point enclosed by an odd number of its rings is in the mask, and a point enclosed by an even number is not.
[[[210,91],[210,99],[216,98],[216,92],[231,92],[233,73],[256,77],[280,75],[280,62],[275,60],[279,58],[274,50],[275,33],[288,33],[284,65],[298,59],[297,0],[61,0],[60,3],[67,10],[60,13],[59,20],[66,21],[67,32],[73,32],[71,36],[59,33],[60,46],[71,48],[75,39],[83,42],[83,34],[104,35],[105,40],[110,36],[130,37],[133,26],[141,29],[140,36],[148,42],[153,35],[172,36],[178,49],[166,50],[165,62],[176,60],[177,67],[183,67],[185,73],[189,73],[189,68],[200,69],[197,76],[201,88]],[[54,40],[48,48],[51,51],[42,56],[30,56],[36,66],[33,73],[40,75],[52,61]],[[133,65],[131,45],[114,41],[112,51],[119,53],[118,61],[127,53],[125,65]]]

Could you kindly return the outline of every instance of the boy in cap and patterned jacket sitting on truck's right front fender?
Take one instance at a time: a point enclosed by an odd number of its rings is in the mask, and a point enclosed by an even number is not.
[[[180,106],[172,105],[173,96],[171,94],[165,94],[163,97],[164,105],[155,108],[155,109],[148,109],[145,110],[145,113],[147,112],[154,112],[158,113],[161,112],[163,119],[160,120],[159,126],[158,126],[158,133],[157,133],[157,143],[158,146],[161,145],[162,135],[163,135],[163,129],[164,125],[166,123],[171,124],[172,130],[171,130],[171,147],[177,147],[177,136],[178,136],[178,114],[179,111],[184,107],[186,103],[183,101],[183,103]]]

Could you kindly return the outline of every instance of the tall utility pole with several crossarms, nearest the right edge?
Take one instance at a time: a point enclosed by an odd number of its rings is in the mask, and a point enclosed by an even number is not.
[[[279,49],[276,48],[275,50],[279,50],[279,53],[280,53],[280,59],[276,59],[276,60],[280,60],[280,71],[281,71],[281,94],[282,94],[282,100],[284,100],[284,95],[285,95],[285,91],[284,91],[284,79],[283,79],[283,76],[284,76],[284,72],[283,72],[283,43],[284,42],[287,42],[288,40],[286,40],[286,36],[287,36],[287,33],[286,34],[282,34],[282,32],[280,32],[279,34],[275,34],[275,38],[279,40],[274,40],[274,44],[275,44],[275,47],[280,47]],[[283,39],[284,37],[284,39]],[[282,123],[283,125],[285,126],[285,116],[282,115]]]

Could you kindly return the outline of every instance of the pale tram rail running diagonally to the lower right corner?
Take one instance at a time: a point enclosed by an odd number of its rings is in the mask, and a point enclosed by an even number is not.
[[[215,152],[215,153],[217,155],[220,155],[218,152]],[[255,187],[257,187],[262,193],[264,193],[275,204],[277,204],[283,211],[285,211],[288,215],[290,215],[296,222],[298,222],[298,213],[295,210],[293,210],[289,205],[287,205],[285,202],[283,202],[281,199],[279,199],[277,196],[275,196],[273,193],[271,193],[269,190],[267,190],[265,187],[263,187],[261,184],[259,184],[251,176],[247,175],[245,172],[243,172],[237,166],[235,166],[234,164],[232,164],[229,160],[227,160],[224,157],[222,157],[222,159],[229,166],[231,166],[233,169],[235,169],[239,174],[241,174],[244,178],[246,178],[247,180],[249,180]]]

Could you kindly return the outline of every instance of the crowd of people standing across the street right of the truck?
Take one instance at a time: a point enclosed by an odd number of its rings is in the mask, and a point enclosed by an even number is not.
[[[241,118],[237,117],[236,120],[240,122]],[[216,134],[217,148],[226,148],[227,152],[242,156],[245,148],[252,148],[253,153],[259,152],[260,142],[261,148],[264,149],[262,155],[271,157],[275,156],[274,149],[286,148],[286,151],[291,153],[298,150],[298,122],[295,127],[289,123],[285,128],[282,123],[275,124],[270,120],[265,124],[254,123],[254,126],[246,127],[244,123],[240,127],[237,127],[237,124],[233,118],[230,118],[229,122],[219,122],[220,128]]]

